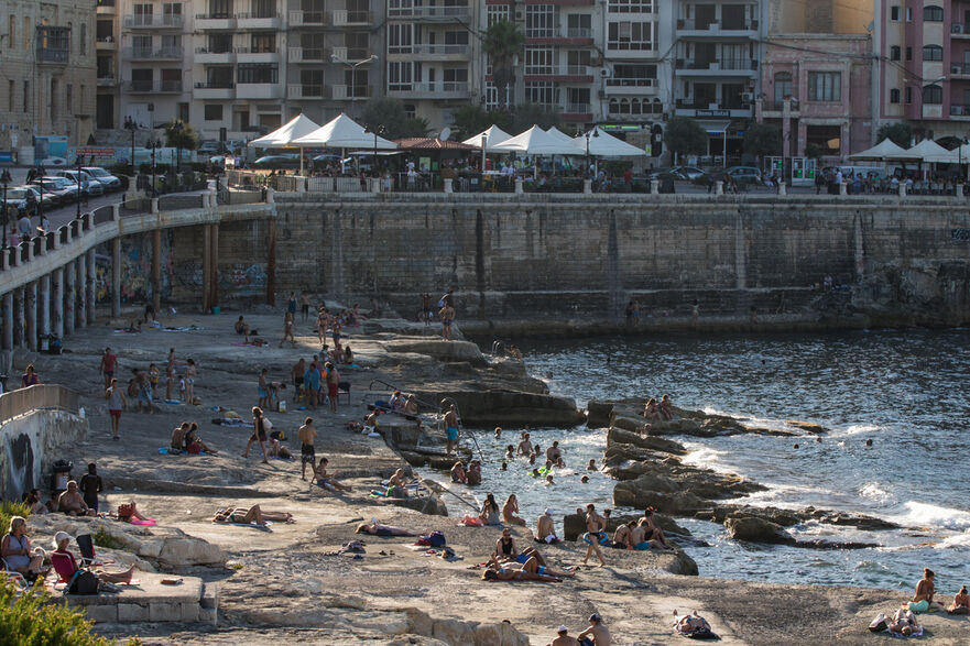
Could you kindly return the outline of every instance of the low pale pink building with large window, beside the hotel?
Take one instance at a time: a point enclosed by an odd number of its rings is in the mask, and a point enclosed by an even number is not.
[[[871,145],[871,52],[868,34],[771,36],[756,118],[782,129],[785,156],[815,145],[844,160]]]

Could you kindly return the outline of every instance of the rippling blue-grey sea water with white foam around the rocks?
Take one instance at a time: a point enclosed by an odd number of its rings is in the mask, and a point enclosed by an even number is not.
[[[909,589],[929,567],[940,592],[952,594],[970,583],[970,331],[650,335],[519,346],[530,373],[579,406],[669,393],[676,406],[732,415],[753,426],[781,428],[786,419],[820,424],[829,429],[821,442],[808,434],[675,439],[690,450],[686,461],[769,488],[737,502],[814,505],[904,526],[863,532],[807,523],[791,529],[804,540],[879,545],[819,550],[739,544],[720,525],[680,518],[695,535],[685,547],[701,576]],[[567,468],[553,472],[551,486],[533,479],[522,458],[499,471],[504,447],[517,445],[521,430],[503,429],[501,439],[475,431],[484,482],[475,492],[459,488],[464,493],[480,500],[491,491],[500,504],[515,493],[531,527],[546,506],[557,517],[587,502],[610,506],[615,481],[586,471],[590,458],[599,466],[603,430],[531,429],[543,449],[560,441]],[[582,474],[590,475],[588,483],[579,482]],[[449,502],[453,513],[461,506],[457,499]]]

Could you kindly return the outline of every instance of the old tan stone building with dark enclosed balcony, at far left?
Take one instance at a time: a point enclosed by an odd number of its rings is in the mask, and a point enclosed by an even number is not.
[[[0,152],[24,164],[34,136],[87,143],[95,92],[95,0],[0,4]]]

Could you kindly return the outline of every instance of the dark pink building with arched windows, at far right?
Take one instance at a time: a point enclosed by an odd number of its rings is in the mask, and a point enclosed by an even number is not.
[[[967,136],[970,2],[876,0],[874,24],[879,124],[906,119],[917,139]]]

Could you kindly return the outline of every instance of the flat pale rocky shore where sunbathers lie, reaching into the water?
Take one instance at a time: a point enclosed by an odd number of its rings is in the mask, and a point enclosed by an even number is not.
[[[428,404],[422,410],[428,415],[436,413],[443,399],[459,401],[465,423],[484,428],[501,424],[575,426],[586,419],[575,403],[549,395],[545,384],[528,376],[521,363],[484,357],[469,342],[438,341],[434,328],[390,318],[368,321],[361,329],[347,330],[358,366],[341,371],[351,383],[351,397],[341,398],[338,413],[298,410],[292,402],[290,413],[270,413],[276,427],[285,429],[291,448],[303,417],[317,419],[317,456],[330,458],[331,472],[353,486],[350,493],[326,492],[301,481],[298,462],[260,464],[252,456],[242,459],[248,430],[208,424],[211,406],[246,412],[255,403],[261,368],[279,375],[273,379],[283,379],[298,357],[318,349],[316,336],[299,322],[297,350],[231,346],[227,330],[236,316],[165,318],[165,326],[201,328],[184,333],[150,330],[115,335],[111,324],[86,328],[72,337],[70,352],[30,358],[45,381],[70,382],[80,392],[90,433],[77,446],[63,447],[64,457],[75,464],[98,463],[106,483],[105,508],[135,501],[157,521],[156,527],[139,528],[111,519],[39,516],[30,519],[34,540],[48,543],[58,528],[94,534],[100,527],[112,540],[111,546],[99,547],[99,554],[146,570],[193,574],[220,591],[217,626],[98,624],[102,634],[138,634],[144,644],[287,639],[402,646],[524,645],[547,643],[563,623],[576,634],[586,626],[586,616],[599,612],[617,643],[666,643],[672,639],[672,611],[678,609],[704,614],[724,644],[857,644],[880,638],[870,636],[865,625],[876,612],[891,612],[903,596],[898,591],[769,585],[684,576],[697,573],[689,558],[695,539],[675,518],[667,517],[660,522],[686,551],[609,550],[608,567],[582,567],[575,579],[564,583],[484,583],[480,571],[470,567],[493,549],[497,530],[458,526],[455,516],[460,516],[460,507],[430,485],[425,496],[406,506],[369,494],[394,470],[410,471],[404,459],[408,452],[414,461],[435,455],[433,449],[443,440],[440,430],[425,424],[417,431],[389,419],[382,425],[382,439],[352,433],[348,423],[362,417],[368,402],[386,396],[386,384],[417,393]],[[251,326],[265,330],[276,329],[281,320],[276,313],[246,316]],[[175,346],[179,359],[193,357],[199,364],[196,391],[203,406],[163,403],[155,415],[127,413],[122,441],[106,441],[108,415],[97,374],[105,346],[116,349],[122,372],[160,363]],[[372,384],[378,386],[373,391]],[[588,423],[597,424],[601,410],[595,413],[591,406],[589,413]],[[685,418],[689,417],[685,414]],[[205,441],[219,455],[161,456],[159,447],[167,444],[171,428],[183,419],[198,420]],[[666,501],[673,516],[708,514],[708,519],[732,522],[741,528],[744,523],[739,519],[746,518],[783,528],[808,517],[836,524],[858,522],[859,526],[870,522],[815,510],[769,513],[739,506],[731,500],[761,485],[685,466],[680,462],[684,447],[663,437],[683,433],[639,434],[635,428],[624,428],[622,419],[628,419],[625,413],[613,416],[617,424],[609,434],[604,457],[610,473],[618,478],[617,490],[629,492],[623,495],[632,502],[649,501],[658,506],[658,501]],[[690,419],[698,433],[737,430],[727,420]],[[682,486],[687,489],[682,492]],[[488,482],[482,490],[488,491]],[[274,524],[270,532],[210,522],[216,508],[231,504],[290,512],[297,522]],[[355,526],[371,517],[419,532],[442,529],[461,558],[445,560],[424,550],[413,551],[413,539],[378,537],[364,538],[367,554],[361,559],[328,556],[359,537]],[[577,521],[557,515],[556,526],[571,535],[578,530]],[[528,522],[534,525],[534,519]],[[533,540],[523,527],[513,527],[513,536],[523,546]],[[566,540],[541,550],[552,567],[564,567],[581,565],[585,547]],[[958,644],[966,636],[964,622],[927,616],[926,626],[937,643]]]

